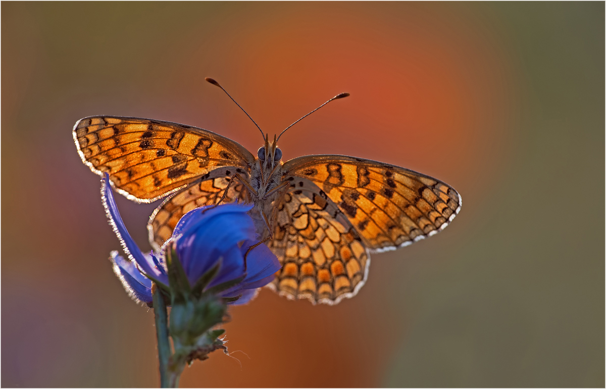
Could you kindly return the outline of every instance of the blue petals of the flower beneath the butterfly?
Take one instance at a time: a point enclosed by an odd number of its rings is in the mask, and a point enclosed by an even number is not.
[[[218,273],[205,290],[243,278],[227,290],[220,288],[217,297],[230,301],[228,304],[246,304],[255,298],[258,288],[271,282],[281,267],[278,258],[264,244],[251,250],[244,262],[248,247],[258,242],[255,225],[247,214],[253,205],[224,204],[191,210],[179,220],[159,253],[142,253],[118,213],[107,173],[101,183],[105,211],[129,260],[117,251],[112,251],[110,259],[125,290],[136,301],[151,304],[152,280],[168,290],[165,250],[175,250],[190,285],[195,285],[218,264]]]

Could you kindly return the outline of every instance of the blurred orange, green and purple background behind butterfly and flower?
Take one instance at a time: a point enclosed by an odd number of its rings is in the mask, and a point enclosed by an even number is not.
[[[604,387],[604,2],[2,2],[2,387],[159,385],[73,124],[195,125],[435,176],[455,221],[335,307],[264,289],[182,387]],[[119,196],[149,248],[155,204]],[[237,359],[237,360],[236,360]]]

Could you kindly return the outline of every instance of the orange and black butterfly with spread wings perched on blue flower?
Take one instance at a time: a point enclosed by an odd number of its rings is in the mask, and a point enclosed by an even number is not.
[[[255,157],[238,142],[202,128],[89,116],[76,122],[73,139],[82,162],[98,175],[107,172],[128,199],[165,198],[148,223],[155,248],[187,211],[223,201],[252,202],[259,244],[267,244],[282,264],[268,286],[314,304],[355,296],[368,278],[371,253],[432,236],[461,210],[461,195],[453,187],[395,165],[344,155],[282,162],[276,136],[270,141],[264,135]]]

